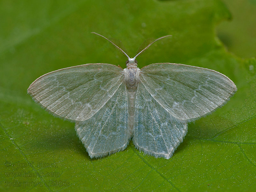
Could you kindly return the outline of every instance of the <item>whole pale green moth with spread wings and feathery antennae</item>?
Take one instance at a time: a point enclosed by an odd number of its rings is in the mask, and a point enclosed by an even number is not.
[[[136,57],[164,37],[146,40],[133,58],[121,41],[104,37],[128,58],[127,68],[95,63],[59,69],[37,78],[28,93],[54,116],[75,122],[91,158],[122,151],[132,139],[145,154],[169,159],[188,123],[223,106],[237,88],[211,69],[175,63],[138,68]]]

